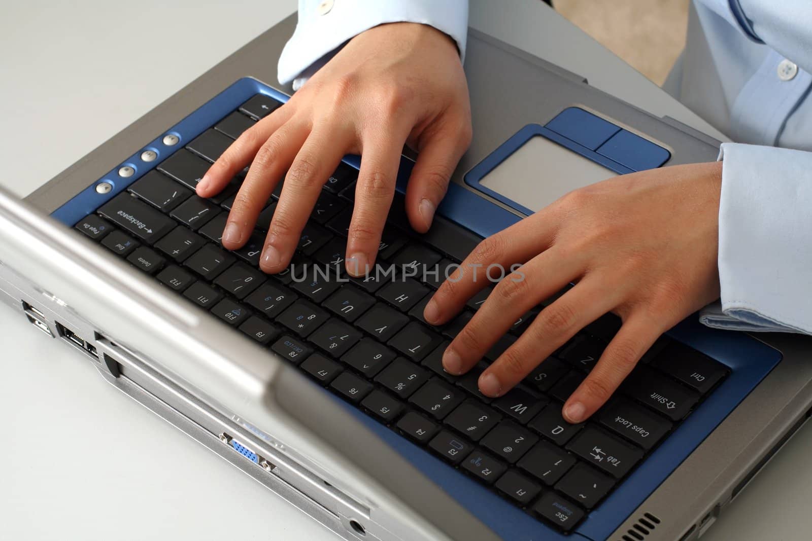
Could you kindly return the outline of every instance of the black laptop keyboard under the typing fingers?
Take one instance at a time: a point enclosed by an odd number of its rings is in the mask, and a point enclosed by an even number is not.
[[[257,230],[237,251],[225,250],[220,240],[242,178],[208,200],[194,189],[236,137],[279,105],[261,94],[246,101],[76,229],[564,532],[598,508],[728,375],[721,363],[661,337],[606,406],[586,423],[570,425],[561,416],[564,401],[620,327],[607,315],[516,389],[485,397],[477,389],[479,374],[552,299],[516,321],[468,374],[443,371],[443,351],[492,288],[440,328],[423,320],[423,307],[445,269],[464,260],[480,238],[442,217],[429,233],[415,234],[397,194],[378,255],[385,268],[394,265],[395,280],[348,277],[343,258],[357,171],[343,163],[325,183],[292,266],[262,273],[259,257],[281,182]],[[416,265],[438,273],[426,281],[398,276]]]

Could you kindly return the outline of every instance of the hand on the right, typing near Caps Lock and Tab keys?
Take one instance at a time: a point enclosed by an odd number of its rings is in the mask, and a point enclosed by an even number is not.
[[[451,320],[490,285],[482,269],[508,274],[443,355],[451,374],[469,371],[511,325],[569,283],[479,378],[490,397],[508,392],[587,324],[614,312],[620,331],[564,405],[580,423],[598,410],[668,328],[719,298],[722,164],[627,174],[572,191],[482,241],[425,308]],[[479,273],[473,272],[479,269]]]

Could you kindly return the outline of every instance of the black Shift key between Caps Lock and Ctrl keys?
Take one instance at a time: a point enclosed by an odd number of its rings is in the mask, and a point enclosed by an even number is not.
[[[621,385],[628,396],[672,421],[679,421],[699,401],[699,394],[648,367],[638,367]]]

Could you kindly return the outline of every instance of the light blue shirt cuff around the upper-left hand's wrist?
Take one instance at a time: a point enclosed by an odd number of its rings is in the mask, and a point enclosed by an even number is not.
[[[302,84],[361,32],[386,23],[428,24],[456,41],[465,57],[467,0],[299,0],[296,31],[279,57],[279,83]]]

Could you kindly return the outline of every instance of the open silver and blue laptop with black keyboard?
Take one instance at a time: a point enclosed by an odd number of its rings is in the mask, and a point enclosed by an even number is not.
[[[454,377],[439,363],[485,298],[443,328],[421,312],[442,269],[482,238],[575,187],[714,160],[718,142],[472,30],[473,143],[427,234],[404,219],[404,157],[380,255],[395,277],[319,272],[343,257],[357,157],[326,179],[300,267],[266,276],[257,258],[274,198],[248,245],[228,252],[219,239],[240,178],[210,200],[193,188],[287,100],[268,58],[294,25],[257,37],[27,201],[0,191],[2,301],[343,539],[696,539],[808,418],[810,339],[689,318],[571,426],[561,405],[614,316],[490,400],[476,371]],[[417,267],[440,272],[405,276]]]

